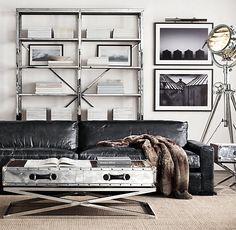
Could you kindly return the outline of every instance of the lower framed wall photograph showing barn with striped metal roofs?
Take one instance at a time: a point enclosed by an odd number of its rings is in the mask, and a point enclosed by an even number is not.
[[[155,69],[154,110],[210,111],[212,69]]]

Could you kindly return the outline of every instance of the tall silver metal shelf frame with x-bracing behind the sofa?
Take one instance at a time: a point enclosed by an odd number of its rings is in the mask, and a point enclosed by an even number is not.
[[[22,31],[22,17],[24,15],[73,15],[76,20],[76,34],[77,37],[71,39],[63,38],[26,38],[21,37]],[[82,21],[83,16],[87,15],[132,15],[137,17],[137,38],[111,38],[111,39],[88,39],[82,37]],[[24,43],[34,43],[34,42],[63,42],[63,43],[75,43],[76,44],[76,60],[73,66],[28,66],[22,64],[22,50],[25,47]],[[83,66],[82,65],[82,44],[89,42],[128,42],[133,44],[133,48],[137,47],[137,66]],[[60,80],[66,84],[73,93],[68,94],[34,94],[34,93],[24,93],[22,92],[22,76],[23,70],[25,69],[48,69],[53,72]],[[66,81],[63,80],[59,74],[57,74],[54,69],[68,69],[68,71],[75,70],[74,77],[76,78],[76,86],[73,88]],[[85,90],[81,89],[81,78],[83,77],[83,71],[92,71],[96,69],[104,70],[95,81],[92,81],[87,87],[84,86]],[[102,78],[102,76],[109,70],[119,69],[125,71],[136,71],[137,72],[137,93],[129,94],[89,94],[85,93],[86,90],[91,88],[96,82]],[[81,120],[81,111],[82,111],[82,100],[91,105],[85,97],[135,97],[137,100],[137,119],[143,119],[143,10],[142,9],[83,9],[83,8],[17,8],[16,9],[16,119],[22,119],[22,97],[25,96],[72,96],[73,99],[65,105],[69,106],[72,103],[76,104],[76,115],[77,119]]]

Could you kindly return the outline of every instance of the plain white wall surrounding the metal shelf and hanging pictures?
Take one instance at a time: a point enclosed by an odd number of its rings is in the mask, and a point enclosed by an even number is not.
[[[143,8],[144,9],[144,119],[187,120],[189,138],[200,140],[209,112],[153,111],[153,23],[166,17],[207,18],[215,25],[236,26],[235,0],[0,0],[0,120],[15,119],[15,9],[16,8]],[[209,67],[211,68],[211,67]],[[214,82],[222,81],[222,71],[214,68]],[[230,82],[236,88],[236,69]],[[235,113],[234,113],[235,117]],[[223,118],[221,104],[212,122],[216,128]],[[212,139],[228,142],[228,131],[221,126]]]

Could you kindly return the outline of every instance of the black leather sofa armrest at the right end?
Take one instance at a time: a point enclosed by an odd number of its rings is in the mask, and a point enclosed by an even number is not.
[[[200,157],[202,176],[202,194],[214,194],[214,151],[213,147],[199,141],[188,140],[184,149],[192,151]]]

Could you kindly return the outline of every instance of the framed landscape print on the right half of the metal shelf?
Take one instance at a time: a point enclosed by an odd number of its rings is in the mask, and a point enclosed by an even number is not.
[[[111,66],[131,66],[132,46],[131,45],[98,45],[98,57],[108,57]]]

